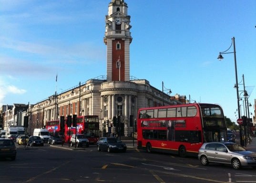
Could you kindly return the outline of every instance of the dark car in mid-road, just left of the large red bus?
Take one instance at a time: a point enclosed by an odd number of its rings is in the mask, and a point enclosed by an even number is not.
[[[126,144],[118,141],[116,137],[101,137],[96,143],[98,151],[126,152]]]

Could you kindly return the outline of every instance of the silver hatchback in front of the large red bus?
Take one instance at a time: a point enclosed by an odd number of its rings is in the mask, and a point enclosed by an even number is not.
[[[230,164],[234,169],[242,166],[256,168],[256,153],[247,151],[233,142],[207,142],[199,149],[198,159],[203,165],[209,163]]]

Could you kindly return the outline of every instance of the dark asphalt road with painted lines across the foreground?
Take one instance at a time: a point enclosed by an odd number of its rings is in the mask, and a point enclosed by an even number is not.
[[[58,148],[57,148],[58,147]],[[68,147],[68,146],[67,146]],[[256,169],[203,166],[195,157],[146,153],[98,152],[88,148],[18,146],[15,161],[0,160],[1,183],[256,183]]]

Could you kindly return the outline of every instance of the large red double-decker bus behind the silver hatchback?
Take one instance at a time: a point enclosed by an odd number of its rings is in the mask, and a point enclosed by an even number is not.
[[[190,103],[138,111],[137,146],[148,153],[197,155],[204,142],[221,141],[226,141],[226,124],[217,104]]]

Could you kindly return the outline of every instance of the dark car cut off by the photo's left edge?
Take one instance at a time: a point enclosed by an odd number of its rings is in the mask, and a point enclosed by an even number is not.
[[[10,139],[0,139],[0,158],[16,159],[16,146]]]

